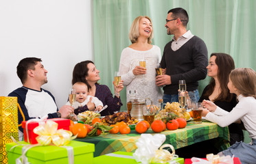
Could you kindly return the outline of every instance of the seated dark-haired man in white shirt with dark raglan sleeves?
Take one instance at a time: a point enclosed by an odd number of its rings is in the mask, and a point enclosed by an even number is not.
[[[47,83],[47,70],[41,59],[27,57],[17,66],[17,74],[21,79],[22,87],[11,92],[8,96],[18,98],[18,103],[25,115],[25,120],[48,115],[48,118],[67,118],[73,113],[73,107],[64,105],[58,109],[54,96],[41,86]],[[18,111],[19,124],[23,121]],[[23,128],[19,127],[19,140],[23,137]]]

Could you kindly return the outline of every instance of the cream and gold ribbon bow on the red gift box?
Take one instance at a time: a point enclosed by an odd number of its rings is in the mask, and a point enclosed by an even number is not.
[[[36,141],[40,145],[49,145],[51,142],[56,146],[64,146],[75,139],[76,136],[72,137],[71,131],[58,129],[58,124],[51,120],[47,120],[45,124],[40,124],[34,128],[34,133],[38,135]]]

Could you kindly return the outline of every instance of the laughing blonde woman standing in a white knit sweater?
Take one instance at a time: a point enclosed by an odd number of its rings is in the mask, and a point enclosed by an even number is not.
[[[129,38],[132,44],[121,53],[119,74],[129,90],[136,90],[138,98],[151,98],[154,104],[162,98],[160,87],[155,85],[157,64],[161,61],[159,46],[152,45],[153,26],[148,16],[138,16],[130,27]],[[139,61],[146,61],[146,68],[139,66]]]

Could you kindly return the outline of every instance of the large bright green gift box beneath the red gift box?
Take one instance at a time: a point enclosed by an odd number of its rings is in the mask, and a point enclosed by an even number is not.
[[[20,144],[27,145],[25,141],[19,141]],[[16,159],[21,156],[23,146],[16,146],[16,143],[7,143],[8,163],[16,163]],[[13,146],[16,146],[12,148]],[[93,163],[93,152],[95,150],[93,143],[80,141],[70,141],[66,146],[73,147],[74,163]],[[12,150],[10,150],[12,148]],[[28,162],[36,164],[56,164],[69,163],[67,149],[58,146],[36,146],[30,148],[25,154]]]

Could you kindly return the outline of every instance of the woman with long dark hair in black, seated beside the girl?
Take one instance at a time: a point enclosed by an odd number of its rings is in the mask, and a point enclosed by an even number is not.
[[[207,66],[208,76],[211,77],[209,85],[202,92],[199,102],[211,100],[218,107],[226,111],[231,111],[237,105],[236,96],[229,92],[229,74],[235,69],[233,58],[226,53],[212,53]],[[230,144],[235,141],[243,141],[244,134],[241,124],[229,125]]]

